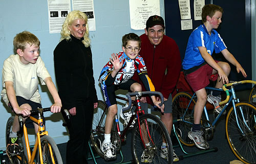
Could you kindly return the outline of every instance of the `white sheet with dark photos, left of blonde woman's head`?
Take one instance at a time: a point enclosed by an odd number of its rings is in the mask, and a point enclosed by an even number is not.
[[[48,0],[49,33],[60,33],[70,6],[70,0]]]

